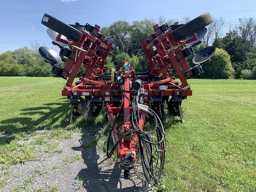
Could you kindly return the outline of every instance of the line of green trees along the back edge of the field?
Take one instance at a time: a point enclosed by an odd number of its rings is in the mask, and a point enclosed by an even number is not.
[[[108,70],[123,66],[128,61],[137,72],[145,71],[149,66],[143,53],[141,43],[154,33],[153,26],[167,23],[169,26],[175,22],[187,23],[188,17],[183,20],[166,20],[160,16],[157,19],[118,20],[110,26],[101,28],[100,33],[113,43],[106,66]],[[228,28],[224,36],[223,30]],[[214,18],[207,26],[207,33],[202,44],[194,47],[195,53],[204,47],[213,45],[216,52],[211,61],[204,64],[204,73],[196,78],[210,79],[256,79],[256,20],[240,18],[239,24],[226,23],[223,18]],[[0,55],[0,76],[52,76],[51,65],[44,62],[38,53],[39,44],[31,42],[31,49],[23,47],[14,51],[6,51]],[[62,63],[61,65],[65,65]],[[189,63],[192,67],[193,63]],[[175,74],[174,74],[175,75]]]

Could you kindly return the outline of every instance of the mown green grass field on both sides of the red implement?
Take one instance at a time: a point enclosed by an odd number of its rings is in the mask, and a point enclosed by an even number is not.
[[[20,162],[10,154],[27,134],[48,129],[62,138],[88,126],[85,116],[68,125],[70,102],[61,96],[65,80],[0,77],[0,82],[0,134],[14,133],[0,137],[2,167]],[[154,189],[256,191],[256,81],[188,82],[193,95],[182,102],[186,122],[168,117],[164,123],[167,154],[162,180]],[[104,119],[98,118],[95,131]]]

